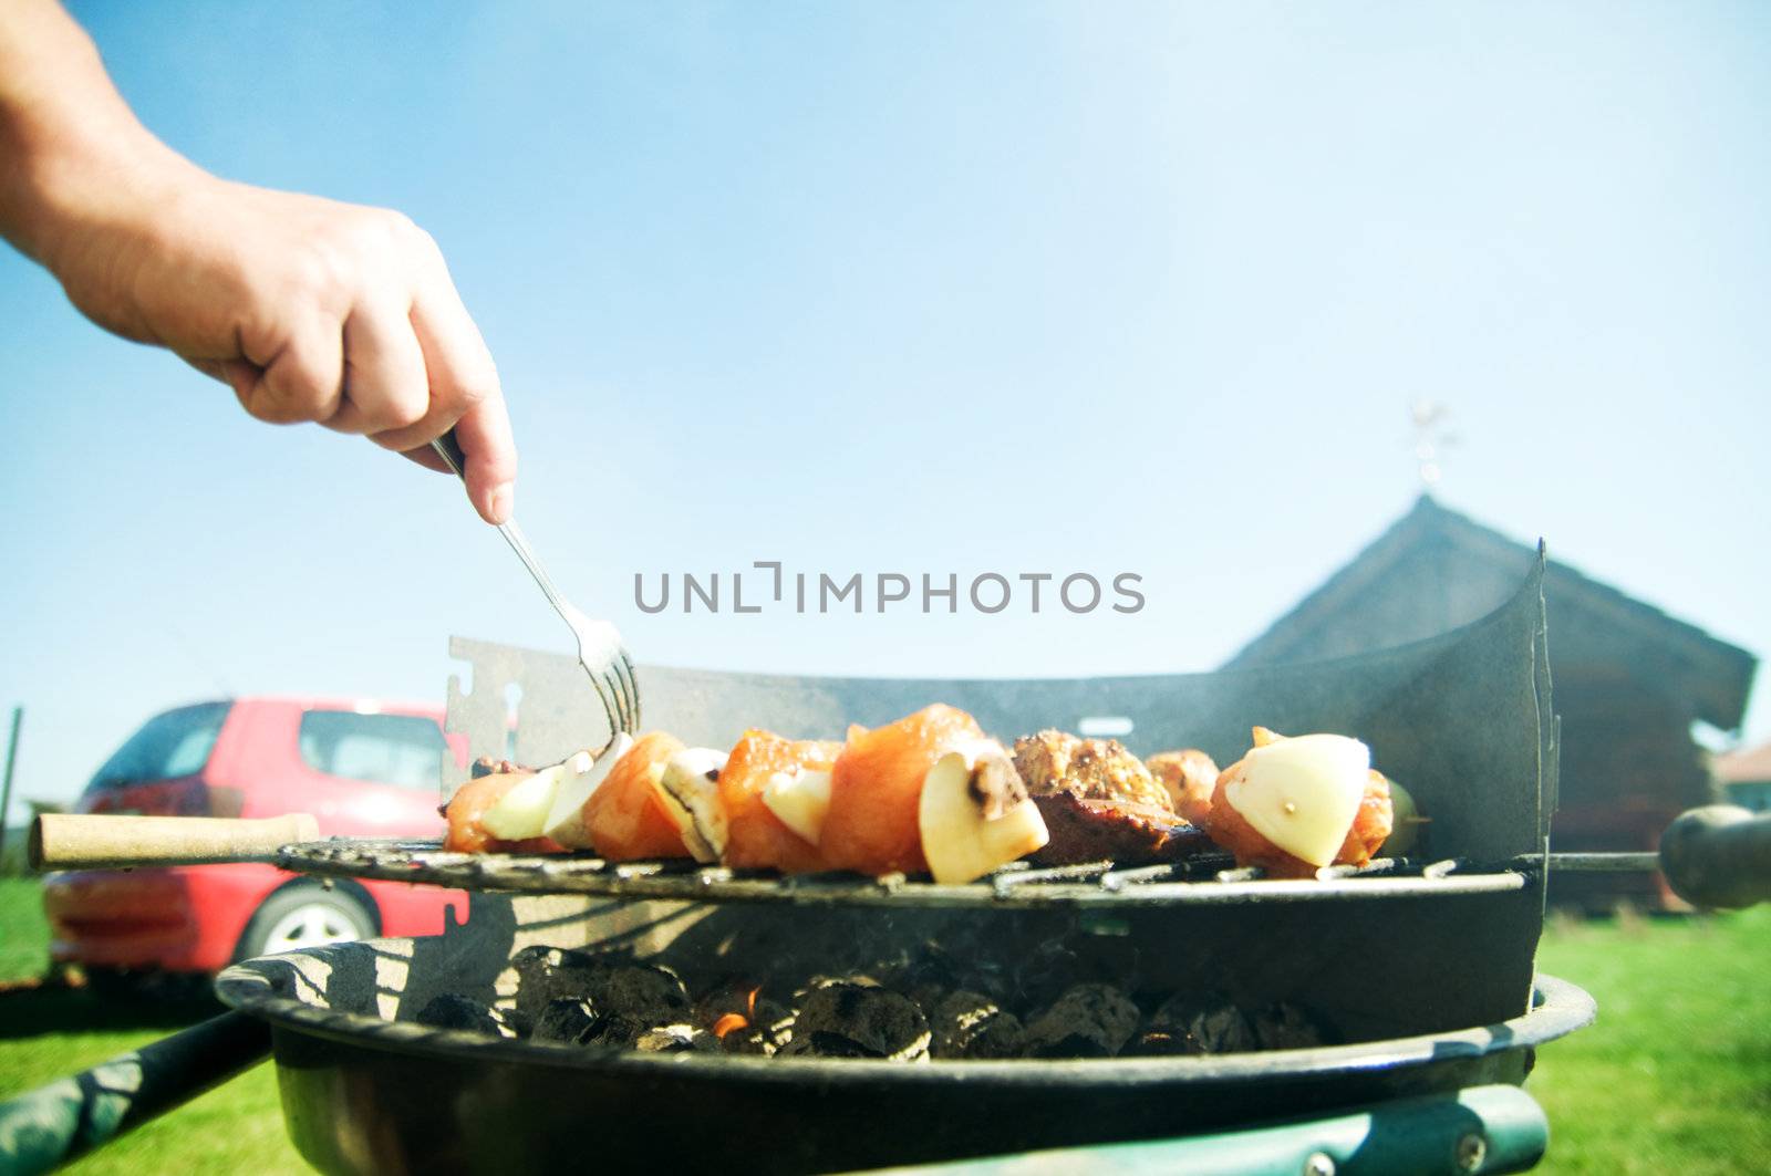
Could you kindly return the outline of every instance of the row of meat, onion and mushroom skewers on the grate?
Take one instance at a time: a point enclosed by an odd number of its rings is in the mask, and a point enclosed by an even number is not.
[[[735,868],[971,882],[1009,861],[1176,863],[1222,847],[1275,877],[1364,864],[1392,825],[1365,744],[1284,739],[1222,772],[1197,749],[1151,756],[1040,731],[1013,756],[955,707],[933,705],[841,744],[749,730],[730,753],[652,731],[538,772],[510,763],[450,801],[448,848],[611,861],[692,857]]]

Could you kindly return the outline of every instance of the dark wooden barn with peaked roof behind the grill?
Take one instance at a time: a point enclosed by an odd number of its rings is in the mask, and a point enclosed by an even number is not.
[[[1420,496],[1226,668],[1339,657],[1463,625],[1516,592],[1535,554]],[[1562,716],[1551,848],[1656,848],[1674,816],[1718,799],[1691,726],[1739,728],[1757,659],[1566,563],[1550,563],[1544,604]],[[1608,910],[1619,900],[1677,901],[1658,875],[1551,875],[1551,905]]]

